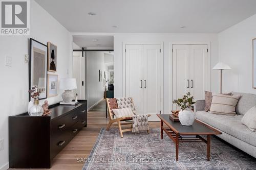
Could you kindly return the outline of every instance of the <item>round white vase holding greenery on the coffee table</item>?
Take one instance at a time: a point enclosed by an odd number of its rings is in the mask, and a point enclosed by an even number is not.
[[[196,115],[192,108],[185,108],[179,112],[179,120],[183,126],[191,126],[195,121]]]

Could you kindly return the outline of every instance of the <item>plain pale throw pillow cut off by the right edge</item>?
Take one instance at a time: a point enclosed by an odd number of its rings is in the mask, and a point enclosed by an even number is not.
[[[256,131],[256,106],[248,110],[241,120],[251,131]]]

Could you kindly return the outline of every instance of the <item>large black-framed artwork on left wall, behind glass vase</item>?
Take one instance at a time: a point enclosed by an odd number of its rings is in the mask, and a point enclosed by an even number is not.
[[[29,89],[37,86],[39,100],[47,97],[47,45],[30,38]],[[29,101],[30,101],[29,93]]]

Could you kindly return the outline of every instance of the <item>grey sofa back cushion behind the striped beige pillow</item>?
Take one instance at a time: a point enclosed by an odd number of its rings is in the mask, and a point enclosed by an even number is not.
[[[250,108],[256,106],[256,94],[232,92],[233,95],[241,95],[238,101],[236,112],[244,115]]]

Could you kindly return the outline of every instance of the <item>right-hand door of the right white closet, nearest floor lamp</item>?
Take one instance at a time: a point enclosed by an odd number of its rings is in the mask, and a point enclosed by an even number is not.
[[[190,92],[195,100],[205,98],[208,75],[207,45],[190,45]]]

